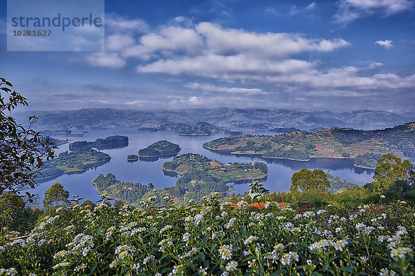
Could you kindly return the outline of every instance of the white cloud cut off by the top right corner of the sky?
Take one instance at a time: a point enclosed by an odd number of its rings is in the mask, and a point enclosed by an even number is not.
[[[334,18],[338,23],[350,23],[374,12],[381,12],[385,16],[396,14],[409,10],[413,5],[411,0],[340,0]]]

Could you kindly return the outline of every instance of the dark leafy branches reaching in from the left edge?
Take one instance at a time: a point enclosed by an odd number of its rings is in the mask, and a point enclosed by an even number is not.
[[[31,129],[39,117],[29,117],[29,126],[24,128],[6,115],[19,105],[28,106],[27,99],[12,88],[12,83],[0,78],[0,195],[19,195],[22,190],[35,188],[44,158],[55,157],[53,149],[57,148]],[[29,200],[33,197],[28,192],[26,195]]]

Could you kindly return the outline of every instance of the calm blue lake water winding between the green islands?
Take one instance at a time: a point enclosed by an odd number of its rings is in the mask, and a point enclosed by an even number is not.
[[[74,131],[74,133],[76,133]],[[255,134],[273,135],[270,132],[257,132]],[[175,132],[143,132],[133,129],[112,129],[112,130],[90,130],[85,133],[84,137],[59,137],[59,139],[73,139],[74,141],[95,141],[97,138],[105,138],[111,135],[124,135],[129,137],[129,146],[125,148],[116,148],[111,150],[102,150],[111,156],[109,163],[99,166],[96,169],[87,170],[78,175],[62,175],[56,179],[39,184],[35,189],[35,193],[43,199],[44,192],[50,188],[55,182],[64,185],[65,189],[71,195],[79,195],[84,199],[97,201],[100,199],[92,180],[102,173],[107,175],[111,172],[116,175],[120,181],[131,181],[133,183],[140,182],[148,184],[151,182],[155,188],[165,188],[174,186],[176,184],[176,177],[169,177],[164,175],[161,169],[165,161],[171,161],[171,158],[158,159],[157,161],[136,161],[129,163],[127,155],[137,155],[138,150],[145,148],[155,141],[166,139],[174,144],[179,144],[182,148],[179,155],[187,152],[199,153],[205,155],[210,159],[216,159],[223,164],[229,162],[252,162],[263,161],[268,165],[268,177],[264,186],[274,191],[288,192],[291,186],[291,176],[301,168],[315,169],[321,168],[324,171],[330,170],[332,175],[337,175],[340,179],[347,179],[347,181],[363,185],[373,181],[372,176],[374,170],[366,170],[362,168],[353,167],[353,161],[347,159],[312,159],[311,161],[290,161],[290,160],[265,160],[260,157],[243,157],[235,155],[225,155],[223,153],[212,152],[203,148],[203,143],[212,139],[224,137],[224,134],[210,135],[210,136],[179,136]],[[59,150],[64,152],[68,150],[68,144],[59,146]],[[248,184],[235,184],[236,193],[243,193],[249,190]]]

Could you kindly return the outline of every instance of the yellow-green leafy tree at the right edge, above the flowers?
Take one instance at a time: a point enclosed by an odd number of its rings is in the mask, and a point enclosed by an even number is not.
[[[382,155],[378,159],[378,166],[374,174],[375,181],[372,184],[378,192],[387,190],[400,181],[406,184],[414,173],[412,168],[412,164],[407,160],[402,161],[399,157],[390,153]]]

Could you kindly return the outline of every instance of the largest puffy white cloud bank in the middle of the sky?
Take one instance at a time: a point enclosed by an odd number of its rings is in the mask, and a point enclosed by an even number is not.
[[[108,21],[110,26],[120,28],[124,32],[116,32],[116,34],[107,36],[107,51],[116,52],[118,58],[124,61],[130,58],[152,61],[153,63],[139,67],[142,72],[151,70],[156,72],[158,64],[164,61],[185,63],[191,58],[194,58],[196,65],[190,67],[197,67],[197,62],[201,60],[209,62],[212,59],[221,59],[220,61],[232,61],[233,64],[226,66],[232,70],[252,68],[261,63],[266,68],[277,66],[279,67],[277,71],[281,71],[284,70],[280,68],[282,63],[284,63],[283,66],[286,66],[286,63],[291,63],[290,65],[306,63],[306,61],[293,61],[290,58],[293,55],[303,52],[331,52],[349,45],[349,42],[340,38],[313,39],[304,37],[302,34],[246,32],[222,28],[208,22],[195,26],[186,17],[176,17],[170,22],[172,25],[161,26],[154,31],[149,31],[147,25],[142,27],[145,23],[139,19],[129,20],[112,15],[107,19]],[[134,32],[125,31],[134,28],[146,29],[147,32],[137,35]],[[273,59],[288,59],[288,61],[271,62]],[[234,63],[238,63],[240,68],[234,68]],[[111,63],[109,65],[113,68]],[[166,65],[169,66],[169,64]],[[173,73],[180,74],[183,70],[178,69]]]

